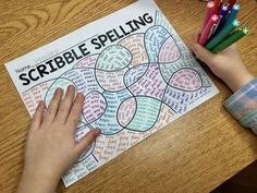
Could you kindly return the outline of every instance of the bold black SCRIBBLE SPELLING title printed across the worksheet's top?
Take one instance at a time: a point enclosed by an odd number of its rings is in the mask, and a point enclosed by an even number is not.
[[[19,80],[22,81],[24,86],[28,86],[33,82],[37,82],[49,74],[57,72],[65,65],[72,64],[81,60],[82,58],[91,55],[88,49],[88,44],[93,49],[100,50],[107,45],[115,43],[137,31],[142,27],[154,23],[154,17],[149,13],[145,13],[134,20],[131,20],[117,28],[112,28],[103,34],[97,35],[89,39],[89,41],[81,43],[77,46],[65,50],[49,60],[38,63],[33,68],[24,69],[25,71],[16,70]],[[90,48],[91,49],[91,48]]]

